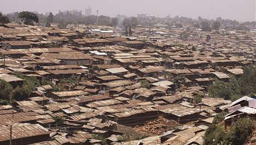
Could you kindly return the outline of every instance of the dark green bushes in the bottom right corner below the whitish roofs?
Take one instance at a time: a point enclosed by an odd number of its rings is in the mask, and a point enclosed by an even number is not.
[[[235,122],[230,130],[224,131],[224,125],[211,125],[205,132],[204,144],[233,144],[240,145],[248,141],[253,133],[254,123],[248,118],[241,118]]]

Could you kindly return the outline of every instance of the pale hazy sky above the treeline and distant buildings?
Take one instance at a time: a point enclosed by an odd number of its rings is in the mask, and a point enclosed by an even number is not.
[[[38,13],[58,10],[78,9],[85,13],[90,6],[92,13],[109,15],[116,14],[134,16],[137,14],[152,14],[157,17],[175,15],[197,18],[215,19],[223,17],[239,21],[255,20],[256,0],[1,0],[0,11],[3,13],[17,11],[37,11]]]

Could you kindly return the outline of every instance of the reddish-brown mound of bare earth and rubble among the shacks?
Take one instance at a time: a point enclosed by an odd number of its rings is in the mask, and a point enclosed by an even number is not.
[[[162,116],[156,120],[146,122],[144,126],[136,126],[134,130],[144,132],[148,136],[159,135],[166,131],[173,130],[174,127],[179,126],[179,123],[174,120],[168,120]]]

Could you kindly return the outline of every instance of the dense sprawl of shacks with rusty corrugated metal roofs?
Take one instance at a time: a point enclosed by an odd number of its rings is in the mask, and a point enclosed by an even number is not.
[[[216,113],[228,109],[227,123],[242,113],[256,113],[249,97],[232,103],[206,94],[215,80],[239,77],[254,63],[256,34],[191,28],[183,41],[183,29],[138,26],[132,37],[121,37],[119,31],[2,25],[0,79],[13,87],[24,81],[17,72],[56,86],[62,79],[80,81],[65,91],[39,86],[31,96],[0,106],[0,144],[9,144],[11,130],[12,144],[101,144],[95,134],[107,144],[202,144]],[[206,41],[206,35],[211,39]],[[179,77],[184,82],[174,81]],[[204,97],[195,103],[198,95]],[[248,100],[247,106],[239,103]],[[119,142],[118,125],[143,126],[159,116],[180,126]],[[63,118],[62,125],[56,125],[56,117]]]

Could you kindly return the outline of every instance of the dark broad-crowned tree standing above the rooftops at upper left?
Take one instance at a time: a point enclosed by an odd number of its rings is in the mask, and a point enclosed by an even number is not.
[[[22,11],[18,13],[18,18],[21,19],[21,22],[26,25],[33,25],[33,22],[38,23],[38,16],[35,13]]]

